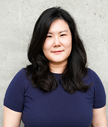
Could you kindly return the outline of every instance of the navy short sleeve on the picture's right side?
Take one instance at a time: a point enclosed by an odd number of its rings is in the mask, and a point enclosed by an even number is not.
[[[91,72],[92,72],[93,88],[94,88],[93,108],[101,108],[106,105],[105,89],[99,76],[94,71]]]

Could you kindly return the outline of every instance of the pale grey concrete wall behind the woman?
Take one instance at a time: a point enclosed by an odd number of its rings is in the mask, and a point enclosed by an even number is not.
[[[36,19],[52,6],[63,7],[75,18],[88,66],[99,75],[108,96],[108,0],[0,0],[0,126],[7,86],[29,63],[26,52]],[[106,112],[108,119],[108,102]]]

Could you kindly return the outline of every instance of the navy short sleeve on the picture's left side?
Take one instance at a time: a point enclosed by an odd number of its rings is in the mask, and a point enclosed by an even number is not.
[[[24,102],[24,69],[21,69],[9,84],[4,97],[4,106],[11,110],[22,112]]]

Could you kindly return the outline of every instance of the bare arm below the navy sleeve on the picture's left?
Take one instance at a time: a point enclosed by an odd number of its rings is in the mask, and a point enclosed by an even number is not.
[[[13,111],[4,106],[3,127],[19,127],[21,116],[21,112]]]

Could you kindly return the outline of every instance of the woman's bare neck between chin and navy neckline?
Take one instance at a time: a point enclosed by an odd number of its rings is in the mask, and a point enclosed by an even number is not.
[[[64,63],[49,63],[50,71],[58,74],[61,74],[65,70],[66,65],[67,61]]]

